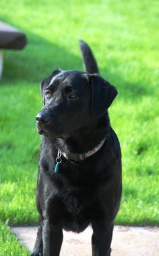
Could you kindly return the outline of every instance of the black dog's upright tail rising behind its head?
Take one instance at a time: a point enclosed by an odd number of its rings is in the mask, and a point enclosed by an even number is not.
[[[86,72],[90,74],[93,74],[93,73],[99,74],[96,59],[94,58],[94,55],[90,47],[83,40],[79,41],[79,47],[82,53],[84,69],[86,70]]]

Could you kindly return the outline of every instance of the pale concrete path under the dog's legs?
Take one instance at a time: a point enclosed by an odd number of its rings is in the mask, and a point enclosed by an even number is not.
[[[32,251],[37,228],[12,228],[18,239]],[[90,256],[92,228],[75,234],[63,232],[61,256]],[[115,226],[111,256],[159,256],[159,228]]]

